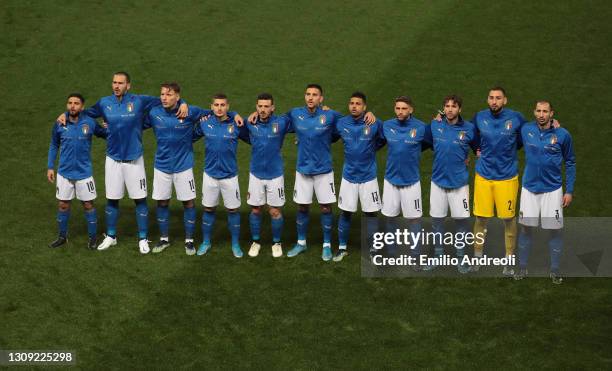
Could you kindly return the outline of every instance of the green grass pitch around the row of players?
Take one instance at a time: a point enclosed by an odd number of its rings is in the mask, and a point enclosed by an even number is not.
[[[609,2],[9,0],[0,15],[0,349],[72,349],[77,366],[89,369],[612,367],[610,279],[559,287],[548,279],[365,279],[356,254],[321,261],[316,208],[311,248],[291,260],[273,260],[268,244],[257,259],[233,258],[224,212],[210,256],[185,256],[176,201],[174,244],[160,256],[138,253],[128,200],[118,246],[86,250],[74,203],[69,245],[51,251],[57,205],[45,178],[51,124],[66,95],[80,91],[93,104],[110,94],[116,70],[129,71],[141,94],[176,80],[199,106],[224,91],[243,116],[261,91],[284,112],[303,104],[306,83],[318,82],[326,103],[343,112],[356,89],[383,119],[395,96],[409,94],[415,115],[428,121],[456,92],[471,117],[485,107],[488,87],[501,84],[509,107],[526,117],[535,99],[552,100],[572,133],[578,180],[567,215],[610,216]],[[284,148],[288,190],[292,139]],[[151,132],[144,141],[151,183]],[[196,148],[200,189],[202,144]],[[104,149],[97,141],[92,153],[100,230]],[[339,185],[341,146],[333,151]],[[431,158],[425,153],[421,164],[424,200]],[[248,161],[240,144],[243,197]],[[243,202],[244,249],[247,211]],[[285,217],[286,250],[295,241],[291,201]]]

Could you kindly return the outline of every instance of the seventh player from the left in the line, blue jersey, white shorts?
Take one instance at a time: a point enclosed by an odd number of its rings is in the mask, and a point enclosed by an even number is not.
[[[344,143],[344,166],[338,195],[338,208],[342,212],[338,220],[339,248],[334,256],[335,262],[348,255],[351,217],[357,211],[358,203],[366,218],[368,238],[378,227],[381,195],[376,179],[376,151],[383,144],[382,122],[377,120],[372,125],[365,123],[366,104],[365,94],[353,93],[348,105],[350,114],[338,120],[335,130]]]

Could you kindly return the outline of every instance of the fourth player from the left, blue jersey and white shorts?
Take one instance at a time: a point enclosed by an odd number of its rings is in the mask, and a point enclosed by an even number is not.
[[[205,161],[202,181],[202,235],[203,242],[197,254],[204,255],[211,248],[212,228],[215,223],[215,210],[219,205],[219,195],[227,209],[227,225],[232,236],[232,253],[241,258],[240,248],[240,187],[238,184],[238,164],[236,149],[239,137],[248,140],[246,126],[239,127],[228,115],[229,101],[225,94],[213,97],[211,109],[214,115],[201,121],[194,131],[194,140],[205,138]]]

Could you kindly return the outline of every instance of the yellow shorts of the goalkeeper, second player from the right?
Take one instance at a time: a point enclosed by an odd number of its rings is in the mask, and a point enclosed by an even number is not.
[[[514,218],[517,193],[518,175],[506,180],[489,180],[476,173],[474,215],[490,218],[495,215],[493,213],[493,206],[495,206],[498,218]]]

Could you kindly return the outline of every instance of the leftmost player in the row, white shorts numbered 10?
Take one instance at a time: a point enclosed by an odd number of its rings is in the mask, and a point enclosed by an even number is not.
[[[91,138],[92,135],[106,138],[108,132],[96,122],[82,113],[85,99],[81,94],[68,96],[66,103],[66,125],[53,125],[51,143],[47,157],[47,179],[50,183],[56,181],[55,159],[60,152],[57,170],[56,197],[59,200],[57,222],[59,237],[49,244],[56,248],[66,243],[68,234],[68,219],[70,217],[70,202],[75,197],[83,203],[85,220],[87,221],[87,246],[96,249],[97,216],[93,200],[96,198],[96,186],[91,169]]]

